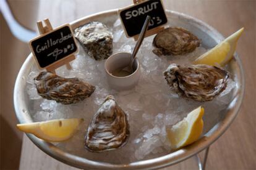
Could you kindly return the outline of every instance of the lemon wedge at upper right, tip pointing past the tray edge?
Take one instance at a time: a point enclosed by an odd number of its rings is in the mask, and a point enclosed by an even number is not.
[[[232,59],[236,51],[237,41],[240,38],[244,28],[236,31],[228,38],[224,39],[220,44],[213,47],[210,51],[198,57],[194,64],[207,64],[207,65],[226,65]]]

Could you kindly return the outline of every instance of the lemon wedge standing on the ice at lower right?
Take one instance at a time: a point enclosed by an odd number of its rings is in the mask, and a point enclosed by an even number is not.
[[[186,118],[166,129],[171,148],[177,149],[195,142],[203,132],[203,107],[191,111]]]

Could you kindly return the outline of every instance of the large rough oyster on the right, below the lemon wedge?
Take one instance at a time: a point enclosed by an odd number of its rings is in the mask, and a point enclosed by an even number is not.
[[[183,65],[171,64],[164,71],[164,76],[177,94],[206,102],[213,100],[227,86],[228,72],[210,65]]]

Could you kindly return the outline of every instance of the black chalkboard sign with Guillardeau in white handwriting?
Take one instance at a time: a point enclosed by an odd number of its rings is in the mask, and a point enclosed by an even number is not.
[[[40,68],[59,62],[77,51],[69,24],[32,39],[30,48]]]

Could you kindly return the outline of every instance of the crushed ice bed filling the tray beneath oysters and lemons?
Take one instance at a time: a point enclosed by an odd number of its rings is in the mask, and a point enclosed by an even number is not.
[[[121,27],[120,20],[113,24],[114,52],[132,52],[135,41],[127,39]],[[61,67],[57,70],[59,76],[77,77],[96,86],[95,92],[88,99],[73,105],[61,105],[53,100],[42,99],[33,85],[33,78],[39,71],[33,65],[27,77],[27,93],[30,97],[30,114],[34,121],[45,121],[57,118],[83,118],[85,123],[75,136],[67,142],[57,144],[68,152],[83,156],[90,160],[105,161],[108,163],[130,163],[147,158],[156,158],[171,152],[166,139],[166,127],[183,119],[189,111],[203,105],[205,107],[204,133],[208,132],[223,116],[221,111],[232,100],[232,89],[235,83],[229,79],[226,90],[212,102],[199,103],[179,98],[171,94],[164,80],[163,71],[169,63],[190,63],[200,54],[206,52],[198,47],[194,52],[175,56],[158,57],[151,52],[153,36],[145,38],[137,54],[140,60],[142,76],[139,84],[129,91],[117,92],[111,89],[106,82],[104,70],[105,61],[95,61],[88,57],[79,46],[77,59],[72,62],[72,70]],[[105,99],[112,94],[121,108],[126,111],[130,124],[130,137],[127,144],[117,150],[91,153],[83,148],[83,137],[94,113]]]

